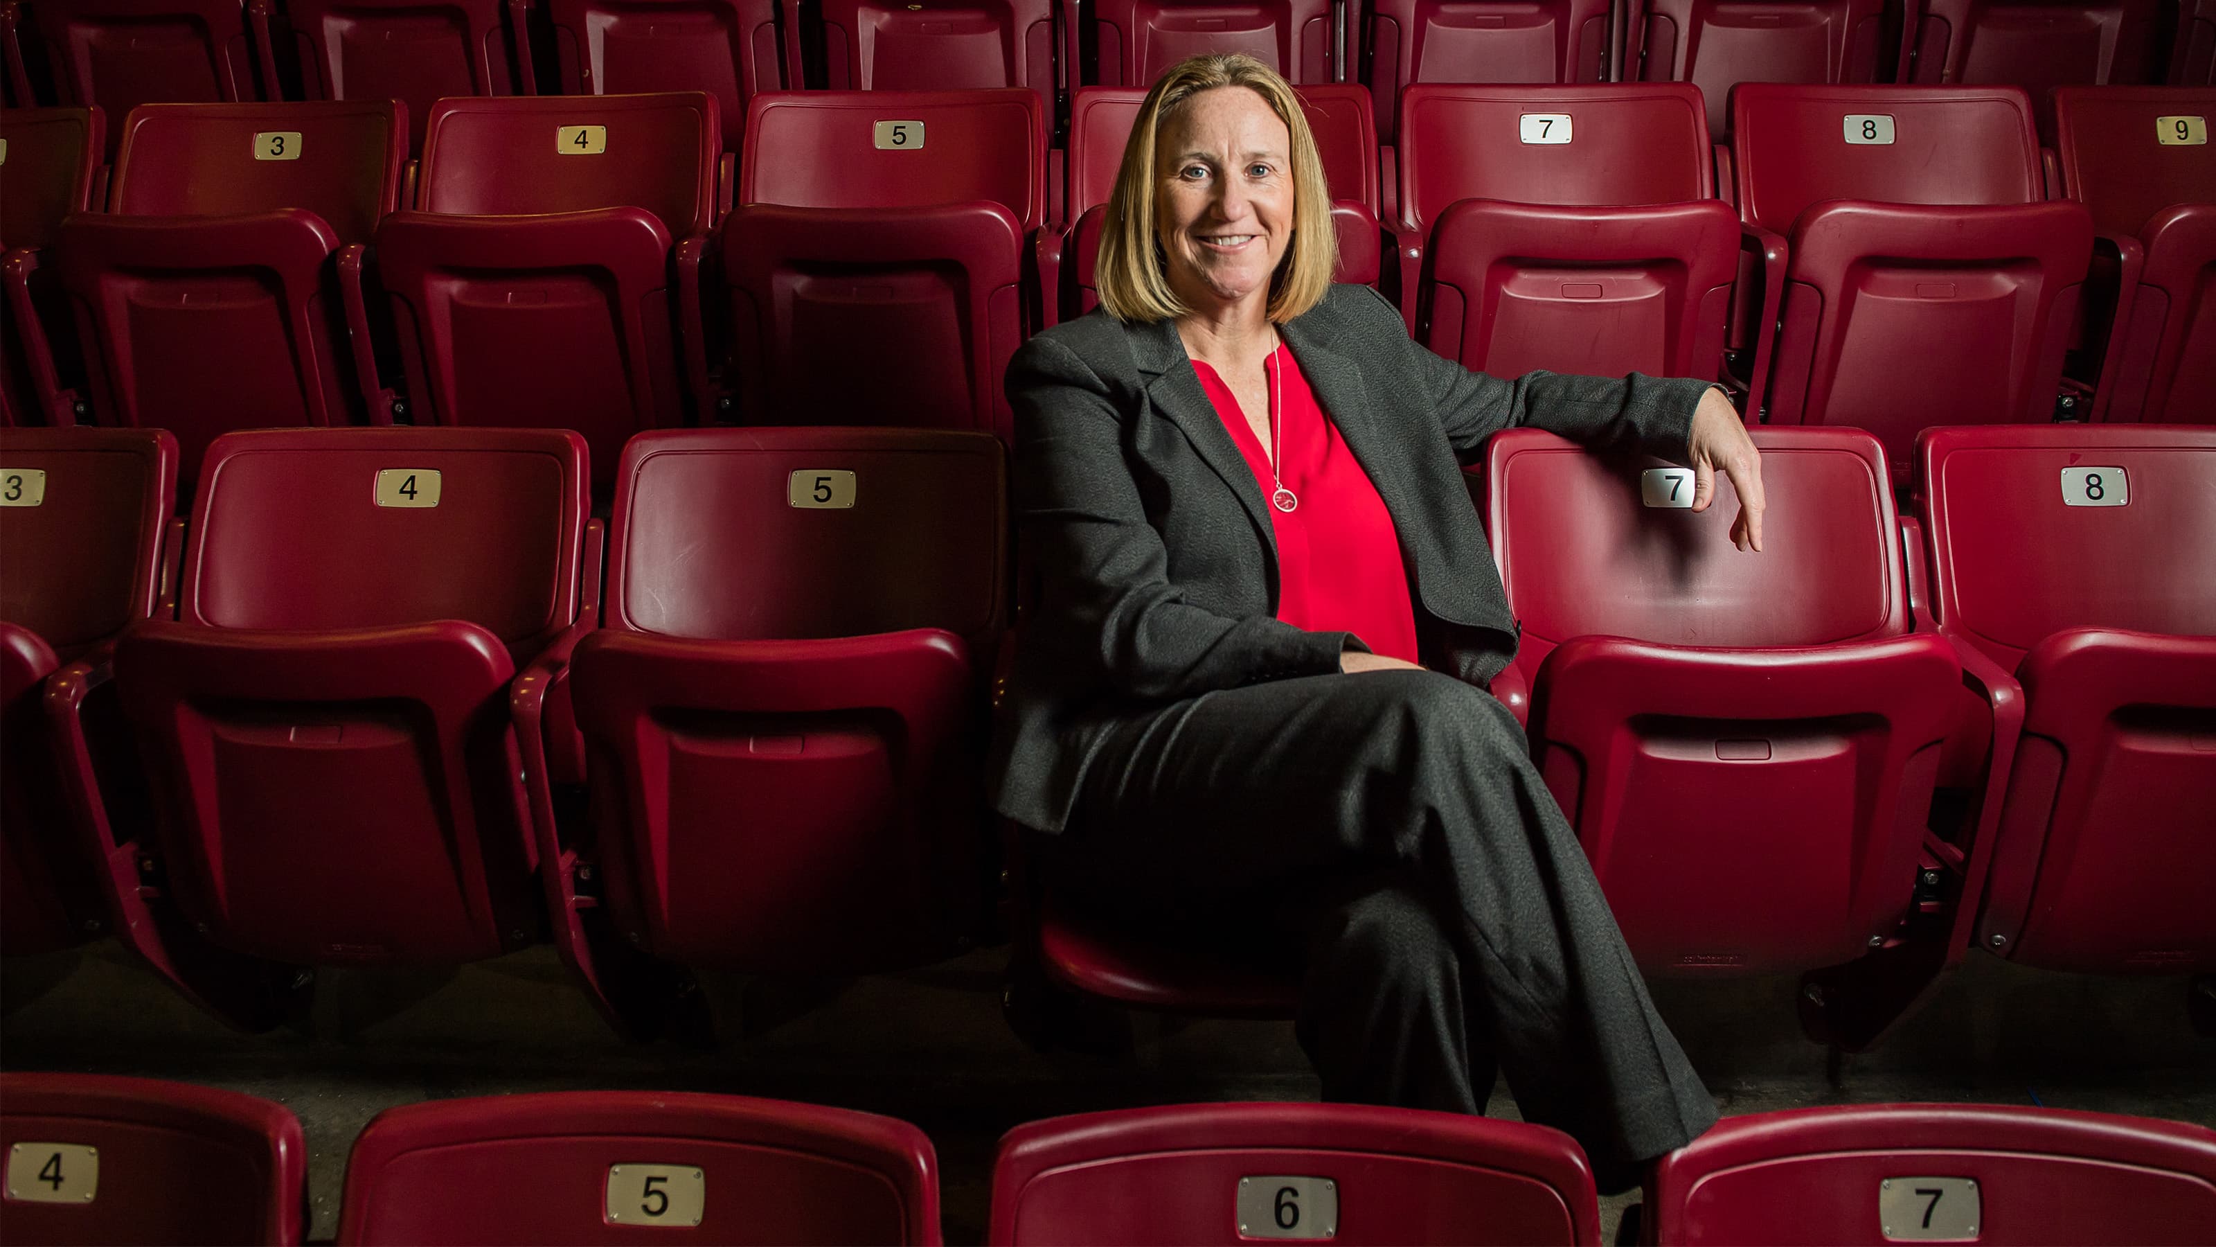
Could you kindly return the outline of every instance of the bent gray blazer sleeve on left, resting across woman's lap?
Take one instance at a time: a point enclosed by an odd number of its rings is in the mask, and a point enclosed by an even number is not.
[[[1008,366],[1015,495],[1026,561],[1046,597],[1059,661],[1137,699],[1338,670],[1365,650],[1352,632],[1310,632],[1270,615],[1230,619],[1170,586],[1168,550],[1124,462],[1110,386],[1068,346],[1033,337]]]

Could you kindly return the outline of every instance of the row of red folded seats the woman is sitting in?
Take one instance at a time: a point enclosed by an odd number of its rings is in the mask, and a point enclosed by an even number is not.
[[[1760,559],[1686,468],[1509,430],[1471,475],[1522,621],[1494,695],[1640,963],[1815,974],[1846,1047],[1972,939],[2216,970],[2216,430],[1928,430],[1921,517],[1868,433],[1755,444]],[[0,430],[0,468],[11,952],[113,930],[261,1027],[286,967],[550,936],[652,1034],[685,967],[991,939],[986,433],[643,433],[607,521],[574,433],[233,433],[188,524],[157,430]],[[1015,983],[1290,1007],[1287,967],[1132,941],[1019,848]]]

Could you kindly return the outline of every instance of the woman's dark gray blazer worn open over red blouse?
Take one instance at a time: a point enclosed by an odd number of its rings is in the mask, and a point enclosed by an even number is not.
[[[1516,424],[1684,462],[1709,382],[1471,373],[1407,337],[1367,286],[1332,286],[1285,344],[1369,473],[1414,581],[1425,666],[1485,683],[1516,655],[1460,462]],[[1059,832],[1117,721],[1243,683],[1338,670],[1350,632],[1276,619],[1276,537],[1252,468],[1170,322],[1092,313],[1008,366],[1015,510],[1035,577],[999,708],[993,805]]]

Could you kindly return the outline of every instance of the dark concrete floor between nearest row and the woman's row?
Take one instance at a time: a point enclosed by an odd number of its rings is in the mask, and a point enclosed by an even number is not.
[[[948,1243],[984,1238],[993,1145],[1022,1121],[1179,1101],[1307,1101],[1283,1023],[1137,1018],[1126,1058],[1042,1056],[999,1016],[1004,950],[824,985],[711,983],[718,1047],[625,1045],[538,947],[439,974],[326,972],[299,1027],[239,1036],[113,945],[11,961],[0,1067],[182,1078],[290,1105],[312,1238],[337,1231],[346,1152],[381,1109],[448,1096],[638,1087],[880,1112],[931,1134]],[[2045,1103],[2216,1125],[2216,1041],[2183,979],[2083,979],[1972,954],[1841,1083],[1793,1018],[1793,981],[1662,983],[1655,998],[1726,1114],[1886,1101]],[[1505,1089],[1489,1112],[1514,1116]],[[1604,1200],[1613,1240],[1622,1207]]]

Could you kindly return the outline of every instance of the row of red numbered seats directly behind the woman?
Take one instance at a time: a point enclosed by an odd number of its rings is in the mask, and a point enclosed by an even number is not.
[[[2216,158],[2172,142],[2212,91],[2059,91],[2050,175],[2017,89],[1748,84],[1711,151],[1684,84],[1412,87],[1385,233],[1367,98],[1305,91],[1341,277],[1471,368],[1728,377],[1735,339],[1753,419],[1873,428],[1899,479],[1917,428],[2059,393],[2216,419]],[[1092,304],[1135,109],[1079,93],[1070,224],[1024,91],[758,95],[736,169],[687,93],[441,100],[421,162],[390,102],[144,107],[106,213],[71,211],[98,113],[9,113],[7,410],[171,428],[186,479],[226,428],[394,417],[576,428],[603,470],[720,417],[1006,437],[1015,346]]]

